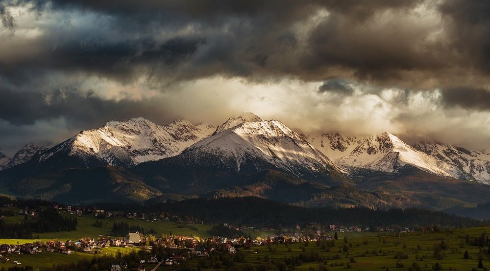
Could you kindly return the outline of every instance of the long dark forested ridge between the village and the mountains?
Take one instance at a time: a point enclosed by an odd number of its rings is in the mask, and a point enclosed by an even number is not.
[[[305,208],[255,197],[190,199],[176,203],[127,205],[126,208],[138,213],[169,212],[178,216],[187,215],[199,218],[205,223],[234,223],[270,227],[307,225],[310,223],[369,227],[392,225],[469,227],[490,224],[489,220],[475,220],[418,208],[394,208],[390,210],[375,210],[365,207]]]

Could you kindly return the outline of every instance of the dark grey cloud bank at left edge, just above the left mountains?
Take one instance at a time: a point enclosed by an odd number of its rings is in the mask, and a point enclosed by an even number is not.
[[[36,121],[65,118],[71,128],[94,128],[108,120],[145,116],[158,123],[171,121],[172,113],[161,100],[101,99],[94,93],[76,90],[53,90],[50,93],[0,90],[0,120],[14,125],[33,125]]]

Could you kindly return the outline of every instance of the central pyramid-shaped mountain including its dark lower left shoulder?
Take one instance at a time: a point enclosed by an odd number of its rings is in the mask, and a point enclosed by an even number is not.
[[[272,169],[322,181],[330,181],[331,174],[338,170],[303,136],[278,120],[262,120],[253,113],[231,117],[218,126],[212,136],[196,142],[182,154],[142,164],[135,167],[134,172],[146,176],[147,172],[155,172],[147,179],[158,183],[157,180],[174,178],[176,168],[182,171],[199,169],[199,174],[203,175],[210,172],[256,173]],[[189,176],[187,179],[193,178]]]

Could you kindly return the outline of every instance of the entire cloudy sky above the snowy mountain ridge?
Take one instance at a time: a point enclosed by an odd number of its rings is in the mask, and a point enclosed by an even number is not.
[[[108,120],[490,148],[487,0],[1,0],[0,148]]]

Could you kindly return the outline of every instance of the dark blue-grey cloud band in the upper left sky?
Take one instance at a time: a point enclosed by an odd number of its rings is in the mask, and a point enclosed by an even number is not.
[[[81,71],[128,81],[142,69],[150,73],[172,68],[203,44],[205,40],[197,37],[173,38],[160,44],[150,38],[112,42],[92,37],[57,45],[42,55],[23,57],[22,61],[4,63],[0,73],[14,84],[25,84],[29,78],[49,70]]]

